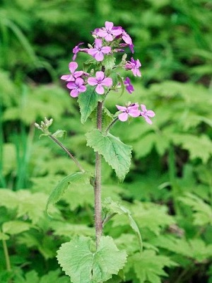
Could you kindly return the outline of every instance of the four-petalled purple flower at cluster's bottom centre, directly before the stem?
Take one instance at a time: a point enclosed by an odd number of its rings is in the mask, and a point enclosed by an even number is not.
[[[88,84],[90,84],[90,86],[97,86],[95,91],[98,94],[103,94],[105,93],[103,86],[112,86],[112,79],[105,78],[103,71],[97,71],[95,77],[88,78]]]

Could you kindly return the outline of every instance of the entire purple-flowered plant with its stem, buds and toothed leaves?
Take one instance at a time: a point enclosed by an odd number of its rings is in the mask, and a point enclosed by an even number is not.
[[[93,45],[82,48],[83,42],[80,42],[73,48],[72,62],[69,63],[70,74],[61,76],[66,81],[70,96],[78,98],[78,105],[81,110],[81,122],[84,124],[91,114],[96,115],[96,127],[86,134],[87,145],[95,151],[95,173],[86,172],[77,159],[61,144],[58,137],[61,137],[63,131],[57,131],[52,134],[49,132],[49,126],[52,125],[52,119],[47,120],[40,125],[35,126],[61,146],[69,157],[73,159],[80,172],[71,174],[61,180],[49,196],[49,204],[58,202],[61,196],[69,187],[75,183],[90,183],[94,187],[95,203],[95,249],[93,250],[93,239],[90,237],[73,238],[71,242],[64,243],[58,250],[57,259],[59,264],[71,277],[73,283],[91,283],[105,282],[117,275],[126,262],[126,252],[118,250],[114,241],[109,236],[102,236],[103,226],[115,214],[127,214],[129,224],[138,236],[140,248],[142,249],[141,235],[139,228],[128,209],[112,200],[105,201],[105,217],[102,218],[102,200],[101,200],[101,158],[114,169],[119,180],[124,180],[126,173],[129,172],[131,161],[131,146],[124,144],[118,137],[110,134],[111,127],[117,122],[125,122],[129,118],[143,119],[152,124],[151,118],[155,116],[153,110],[147,110],[146,105],[139,103],[126,102],[126,105],[116,105],[117,112],[112,115],[108,110],[110,122],[105,129],[102,129],[105,112],[105,100],[111,91],[127,91],[132,93],[132,86],[129,76],[123,78],[120,76],[120,69],[131,71],[134,76],[141,76],[141,62],[139,59],[131,57],[126,60],[124,49],[128,48],[134,53],[134,45],[131,37],[121,27],[115,27],[112,22],[105,22],[102,28],[95,28],[92,33],[95,38]],[[89,59],[85,63],[83,70],[79,71],[78,64],[75,62],[79,52],[88,54]],[[117,64],[117,53],[123,53],[121,61]],[[141,107],[141,108],[140,108]],[[108,114],[110,113],[110,114]],[[111,263],[112,262],[112,263]]]

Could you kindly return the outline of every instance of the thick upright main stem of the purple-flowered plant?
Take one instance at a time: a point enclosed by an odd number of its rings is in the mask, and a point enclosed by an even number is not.
[[[97,128],[102,130],[102,102],[98,102],[98,117]],[[101,156],[96,152],[95,154],[95,185],[94,185],[94,198],[95,198],[95,243],[96,248],[100,243],[102,235],[102,200],[101,200]]]

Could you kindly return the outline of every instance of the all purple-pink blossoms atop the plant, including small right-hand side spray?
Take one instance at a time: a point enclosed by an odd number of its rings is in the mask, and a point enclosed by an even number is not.
[[[69,63],[70,74],[61,76],[61,79],[67,82],[67,88],[71,90],[70,95],[76,98],[81,93],[85,93],[88,86],[93,86],[98,95],[104,95],[110,90],[116,91],[121,85],[125,86],[128,93],[132,93],[134,86],[132,86],[129,77],[121,78],[122,83],[120,83],[120,76],[119,79],[114,79],[114,69],[119,67],[119,69],[131,71],[134,76],[141,76],[141,62],[133,57],[127,61],[126,54],[122,56],[122,61],[117,65],[114,63],[115,59],[111,60],[117,52],[124,52],[125,47],[129,47],[131,52],[134,53],[134,45],[129,34],[121,26],[114,26],[114,23],[106,21],[105,26],[95,28],[92,35],[95,38],[93,45],[83,48],[81,45],[84,43],[80,42],[73,48],[73,61]],[[90,73],[86,72],[88,70],[77,71],[78,64],[75,60],[78,52],[85,52],[93,57],[93,60],[89,59],[87,63],[87,65],[90,64],[90,69],[88,68]],[[119,110],[118,119],[122,122],[126,121],[129,116],[142,116],[146,122],[152,124],[149,117],[155,115],[152,110],[146,110],[146,106],[143,104],[141,104],[141,110],[139,110],[138,103],[130,103],[126,107],[117,105],[117,108]]]

